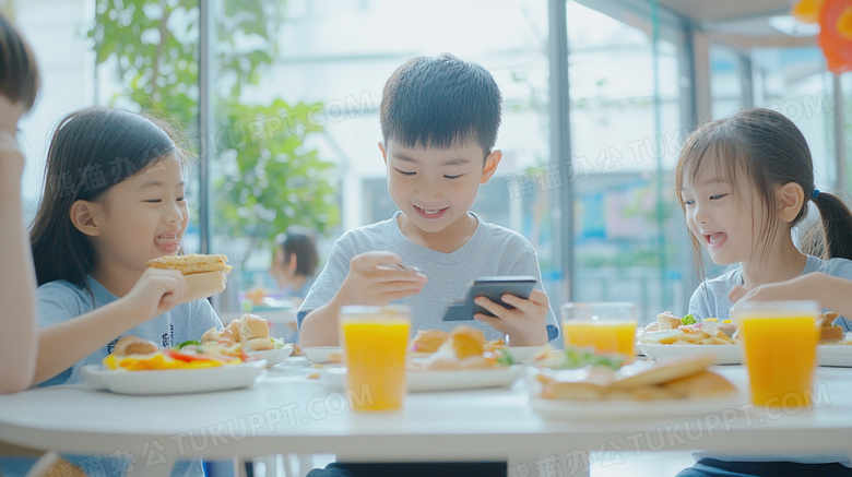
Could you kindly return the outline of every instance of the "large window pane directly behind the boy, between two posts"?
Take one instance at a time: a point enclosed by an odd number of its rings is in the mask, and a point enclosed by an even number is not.
[[[232,10],[241,3],[214,2],[217,31],[233,31],[223,25],[233,23]],[[513,181],[528,168],[549,163],[546,2],[292,0],[279,5],[280,23],[270,38],[275,43],[274,56],[258,69],[258,83],[244,88],[239,98],[242,104],[281,98],[293,109],[277,112],[295,118],[297,123],[304,120],[304,126],[313,130],[303,134],[304,128],[297,127],[291,134],[286,128],[270,129],[273,141],[299,141],[303,145],[295,154],[313,154],[334,165],[324,176],[309,179],[329,182],[341,211],[338,222],[321,224],[327,226],[320,236],[321,252],[342,231],[387,219],[395,212],[377,146],[382,140],[378,114],[381,88],[391,73],[412,57],[448,51],[488,69],[504,95],[497,140],[504,159],[497,175],[482,187],[473,210],[485,220],[529,237],[539,251],[544,275],[559,279],[560,267],[553,259],[551,206],[539,196],[539,183],[525,183],[519,190]],[[448,15],[449,11],[453,13]],[[220,46],[224,39],[220,39]],[[246,39],[247,48],[249,41]],[[214,64],[214,76],[230,79],[232,68]],[[214,94],[218,96],[212,100],[213,116],[222,118],[226,115],[222,88]],[[296,110],[298,104],[306,105],[306,109]],[[236,170],[240,153],[237,147],[218,155],[213,163],[218,168],[213,171],[214,181],[216,175]],[[291,182],[271,186],[286,189]],[[291,217],[309,227],[315,218]],[[234,257],[251,252],[238,275],[244,281],[241,288],[268,284],[269,247],[257,247],[246,237],[234,240],[232,231],[228,219],[223,220],[214,228],[213,243]]]

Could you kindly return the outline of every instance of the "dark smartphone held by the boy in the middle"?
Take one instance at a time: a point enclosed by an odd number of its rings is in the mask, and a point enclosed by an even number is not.
[[[474,298],[485,297],[506,308],[514,308],[504,302],[500,297],[505,294],[510,294],[521,298],[530,298],[535,283],[534,276],[481,276],[471,283],[465,298],[450,301],[442,320],[473,320],[475,313],[494,317],[492,312],[474,303]]]

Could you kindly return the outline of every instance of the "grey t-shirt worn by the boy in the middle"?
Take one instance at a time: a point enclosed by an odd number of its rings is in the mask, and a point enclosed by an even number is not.
[[[459,322],[442,321],[450,300],[464,298],[475,277],[531,275],[542,288],[539,259],[532,245],[517,231],[483,222],[473,215],[478,225],[473,236],[458,250],[443,253],[421,247],[409,240],[400,230],[397,214],[383,222],[345,232],[332,246],[326,267],[313,283],[299,307],[298,324],[309,311],[334,297],[350,271],[353,257],[369,251],[389,251],[402,257],[405,265],[418,267],[428,278],[423,290],[414,296],[391,301],[392,305],[411,307],[412,335],[417,330],[451,331]],[[482,330],[486,339],[502,338],[502,333],[478,321],[465,321],[465,325]],[[556,339],[559,327],[551,307],[547,311],[547,338]]]

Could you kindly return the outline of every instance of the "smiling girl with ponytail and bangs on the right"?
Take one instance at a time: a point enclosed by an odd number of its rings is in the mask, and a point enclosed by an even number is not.
[[[852,317],[852,261],[847,260],[852,214],[837,196],[815,189],[807,142],[783,115],[747,109],[698,128],[681,152],[675,193],[699,264],[701,247],[714,263],[738,264],[698,287],[689,301],[696,318],[730,318],[732,301],[744,295],[819,299]],[[828,254],[845,258],[823,260],[795,247],[792,229],[809,201],[819,208]],[[845,289],[847,298],[824,297],[812,286],[816,283]],[[777,294],[780,287],[785,295]],[[843,324],[849,329],[848,321]],[[849,455],[705,455],[678,476],[852,475],[851,465]]]

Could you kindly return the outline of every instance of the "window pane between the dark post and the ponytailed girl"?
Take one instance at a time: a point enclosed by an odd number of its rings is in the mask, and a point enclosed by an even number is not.
[[[691,121],[682,108],[689,97],[682,29],[671,15],[568,3],[571,299],[631,300],[640,322],[683,312],[684,277],[693,275],[681,260],[689,245],[668,181]]]

